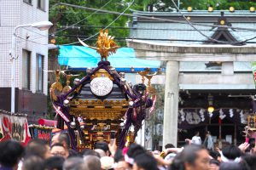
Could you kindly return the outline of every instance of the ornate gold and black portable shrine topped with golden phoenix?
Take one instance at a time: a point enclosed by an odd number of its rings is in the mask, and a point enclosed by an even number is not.
[[[147,113],[154,110],[155,90],[150,85],[154,75],[141,71],[140,75],[148,78],[148,85],[132,85],[124,72],[116,71],[108,56],[119,46],[107,30],[100,31],[96,47],[80,42],[94,48],[101,61],[95,68],[87,68],[86,76],[75,78],[73,87],[70,87],[71,75],[66,75],[67,84],[63,88],[61,71],[55,71],[50,97],[58,117],[57,127],[63,129],[64,123],[67,125],[73,149],[92,149],[96,141],[110,142],[113,135],[122,148],[126,142],[134,141]]]

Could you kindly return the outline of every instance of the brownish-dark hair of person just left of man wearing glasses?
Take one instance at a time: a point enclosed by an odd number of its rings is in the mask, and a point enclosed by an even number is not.
[[[46,147],[48,143],[43,139],[32,139],[26,145],[26,157],[28,156],[39,156],[44,159],[46,153]]]

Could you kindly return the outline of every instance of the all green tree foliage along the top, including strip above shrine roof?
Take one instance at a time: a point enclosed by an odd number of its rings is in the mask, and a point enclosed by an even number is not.
[[[132,0],[61,0],[62,3],[70,3],[80,7],[89,7],[96,9],[106,9],[110,11],[123,12],[125,8],[131,4]],[[174,0],[179,2],[180,9],[187,9],[189,6],[193,9],[207,10],[209,6],[213,9],[229,9],[233,6],[236,10],[248,10],[251,6],[256,6],[253,1],[231,1],[231,0]],[[125,46],[125,37],[129,35],[127,23],[131,20],[129,16],[121,16],[119,14],[108,14],[100,11],[92,11],[84,8],[73,8],[66,5],[56,5],[55,0],[49,0],[49,20],[55,26],[51,29],[50,34],[55,36],[56,44],[67,44],[78,42],[80,39],[86,39],[85,42],[95,45],[97,33],[101,28],[108,26],[109,34],[116,37],[115,40],[119,46]],[[175,6],[172,0],[134,0],[131,8],[134,10],[172,12]],[[125,13],[129,13],[128,9]],[[113,22],[113,20],[116,20]],[[113,23],[112,23],[113,22]],[[77,25],[63,30],[63,26]],[[62,26],[62,27],[61,27]],[[76,26],[79,26],[76,27]],[[93,36],[93,37],[92,37]],[[90,37],[88,39],[88,37]],[[79,42],[76,45],[80,45]]]

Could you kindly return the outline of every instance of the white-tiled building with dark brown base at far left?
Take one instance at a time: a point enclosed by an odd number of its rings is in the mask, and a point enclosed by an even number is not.
[[[15,112],[27,113],[29,122],[47,113],[48,31],[31,26],[15,31],[15,26],[49,20],[48,14],[49,0],[0,2],[0,109],[11,108],[10,50],[15,37]]]

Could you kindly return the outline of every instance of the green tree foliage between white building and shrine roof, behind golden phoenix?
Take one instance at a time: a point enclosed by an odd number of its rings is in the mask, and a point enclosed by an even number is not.
[[[73,5],[78,5],[80,7],[89,7],[96,9],[107,9],[111,11],[123,12],[127,8],[130,1],[75,1],[75,0],[62,0],[61,3],[70,3]],[[65,5],[55,5],[54,0],[49,1],[49,20],[55,24],[55,30],[51,32],[55,35],[57,44],[66,44],[71,42],[78,42],[78,37],[80,39],[86,39],[98,33],[101,28],[105,28],[110,25],[113,20],[115,20],[118,14],[107,14],[100,11],[86,10],[84,8],[73,8]],[[106,5],[106,3],[108,3]],[[126,12],[129,12],[127,10]],[[127,37],[128,29],[119,29],[119,27],[124,27],[127,24],[129,17],[121,16],[118,20],[114,21],[111,26],[109,26],[109,34],[113,37]],[[79,23],[78,23],[79,22]],[[63,30],[61,26],[72,26],[78,23],[74,27],[76,29],[66,29]],[[62,30],[62,31],[61,31]],[[56,32],[55,32],[56,31]],[[85,41],[87,44],[94,45],[96,42],[96,37],[91,37],[89,40]],[[120,46],[125,46],[125,41],[116,40]],[[80,45],[77,43],[76,45]]]

